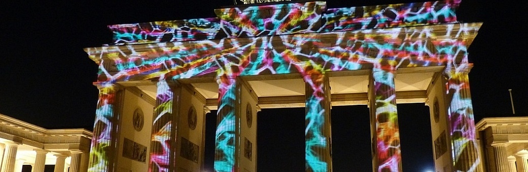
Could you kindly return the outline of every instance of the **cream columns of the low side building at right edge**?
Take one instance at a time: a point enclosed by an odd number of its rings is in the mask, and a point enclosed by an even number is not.
[[[521,150],[513,156],[508,156],[506,142],[494,142],[491,146],[497,171],[528,172],[528,150]]]

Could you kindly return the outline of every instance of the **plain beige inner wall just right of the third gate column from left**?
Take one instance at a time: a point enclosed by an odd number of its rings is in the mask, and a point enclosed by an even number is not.
[[[240,121],[240,143],[237,147],[240,171],[257,172],[257,95],[246,82],[239,80],[237,102],[240,107],[237,108],[236,119]]]

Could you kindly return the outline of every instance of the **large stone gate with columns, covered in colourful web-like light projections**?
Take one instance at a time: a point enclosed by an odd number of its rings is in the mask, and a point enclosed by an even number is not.
[[[215,171],[257,171],[256,114],[280,107],[306,107],[306,171],[332,171],[330,108],[359,104],[374,171],[402,171],[396,105],[423,102],[436,171],[482,171],[467,59],[482,23],[457,22],[459,3],[272,3],[110,25],[112,45],[85,49],[100,90],[89,171],[200,171],[212,109]]]

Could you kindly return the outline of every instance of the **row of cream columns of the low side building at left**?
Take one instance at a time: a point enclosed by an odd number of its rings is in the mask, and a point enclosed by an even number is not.
[[[22,166],[26,163],[25,159],[16,159],[16,153],[18,146],[20,144],[9,142],[4,143],[5,147],[3,150],[0,149],[0,159],[2,164],[0,164],[0,172],[12,172],[12,171],[22,171]],[[42,172],[44,171],[46,154],[50,151],[44,149],[34,149],[36,152],[35,162],[32,165],[32,172]],[[55,172],[63,172],[69,169],[70,172],[78,172],[81,167],[81,156],[82,151],[73,150],[71,151],[71,163],[69,167],[65,166],[65,159],[68,157],[66,155],[58,154],[55,155]]]

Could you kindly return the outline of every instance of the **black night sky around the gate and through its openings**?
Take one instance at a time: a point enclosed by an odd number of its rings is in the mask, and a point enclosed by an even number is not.
[[[214,8],[233,5],[204,0],[14,2],[0,1],[0,114],[44,128],[89,130],[95,119],[98,90],[92,82],[98,66],[83,48],[111,43],[107,25],[214,17]],[[327,7],[410,2],[417,1],[327,1]],[[528,4],[482,2],[463,0],[457,11],[459,21],[484,23],[469,47],[476,122],[526,116],[528,34],[523,30],[528,29]],[[513,89],[515,115],[508,89]],[[371,171],[368,112],[366,106],[332,109],[334,171]],[[403,169],[432,169],[427,106],[398,105],[398,115]],[[259,171],[304,171],[304,108],[263,109],[258,120]],[[208,115],[208,124],[214,121],[214,114]],[[214,125],[207,128],[206,138],[214,139]],[[211,152],[205,157],[209,170]]]

